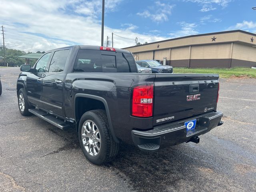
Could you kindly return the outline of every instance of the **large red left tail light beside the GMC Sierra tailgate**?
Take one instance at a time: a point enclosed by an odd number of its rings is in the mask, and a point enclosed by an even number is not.
[[[151,117],[153,114],[154,85],[140,85],[133,88],[132,115]]]

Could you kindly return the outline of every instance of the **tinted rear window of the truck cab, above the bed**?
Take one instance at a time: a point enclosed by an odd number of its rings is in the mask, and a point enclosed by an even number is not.
[[[80,49],[74,72],[137,72],[131,54]]]

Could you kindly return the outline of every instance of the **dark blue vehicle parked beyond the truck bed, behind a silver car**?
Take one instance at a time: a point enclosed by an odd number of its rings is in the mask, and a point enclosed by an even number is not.
[[[136,63],[141,67],[152,69],[152,73],[173,73],[172,66],[162,65],[156,60],[139,60]]]

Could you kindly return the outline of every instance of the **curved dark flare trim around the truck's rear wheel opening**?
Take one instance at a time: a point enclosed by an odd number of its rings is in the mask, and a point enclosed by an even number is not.
[[[111,122],[111,118],[110,118],[110,112],[109,112],[107,101],[104,98],[99,97],[99,96],[95,96],[95,95],[89,95],[89,94],[83,94],[83,93],[75,94],[75,96],[74,96],[74,106],[73,106],[75,120],[76,120],[75,104],[76,104],[76,98],[78,98],[78,97],[84,97],[84,98],[99,100],[99,101],[101,101],[104,104],[105,109],[106,109],[107,118],[108,118],[108,124],[109,124],[109,128],[110,128],[110,132],[111,132],[111,134],[112,134],[112,136],[114,138],[114,141],[119,143],[118,138],[114,134],[114,129],[113,129],[113,126],[112,126],[112,122]]]

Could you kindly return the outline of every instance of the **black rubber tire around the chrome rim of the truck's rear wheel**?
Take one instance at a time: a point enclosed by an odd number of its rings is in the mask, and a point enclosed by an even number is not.
[[[82,138],[82,132],[85,133],[83,125],[88,121],[94,123],[100,133],[100,150],[96,156],[89,154],[89,152],[86,150],[86,147],[88,146],[84,146],[84,143],[86,140],[89,140],[89,138],[87,136],[86,138]],[[105,162],[110,162],[116,157],[118,153],[119,146],[118,143],[114,141],[113,136],[109,130],[108,118],[104,110],[91,110],[82,115],[79,123],[78,137],[84,155],[93,164],[100,165]],[[92,137],[90,139],[92,139]],[[91,146],[93,148],[93,145],[90,145],[90,147]]]

